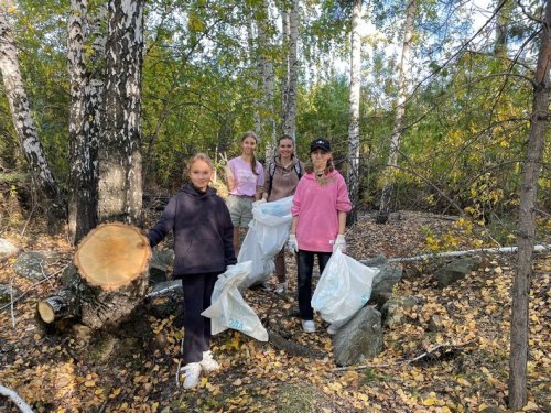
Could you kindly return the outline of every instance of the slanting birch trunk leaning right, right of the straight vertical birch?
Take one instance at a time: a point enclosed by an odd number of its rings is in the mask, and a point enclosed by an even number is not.
[[[388,162],[385,173],[382,175],[382,194],[380,198],[379,211],[377,214],[377,224],[385,224],[388,221],[390,214],[390,203],[392,200],[392,192],[395,186],[393,173],[398,166],[398,152],[400,151],[400,139],[402,137],[403,123],[406,120],[406,95],[407,95],[407,76],[406,68],[410,57],[411,42],[413,39],[413,23],[415,20],[417,0],[409,0],[408,9],[406,10],[406,21],[403,23],[403,44],[402,56],[400,59],[399,70],[399,91],[398,105],[396,108],[395,126],[390,137],[390,149],[388,154]]]

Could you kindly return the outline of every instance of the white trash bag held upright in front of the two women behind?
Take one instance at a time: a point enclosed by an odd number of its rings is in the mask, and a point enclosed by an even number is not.
[[[273,257],[289,238],[292,205],[292,196],[273,203],[252,203],[252,220],[237,257],[238,262],[252,261],[251,272],[244,281],[244,286],[262,284],[270,279],[276,268]]]

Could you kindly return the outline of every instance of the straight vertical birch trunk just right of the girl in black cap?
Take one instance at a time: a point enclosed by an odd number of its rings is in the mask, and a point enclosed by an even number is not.
[[[359,200],[359,95],[361,84],[361,39],[359,23],[361,19],[361,0],[354,0],[350,33],[350,96],[348,124],[348,188],[353,209],[348,214],[348,224],[356,222]]]

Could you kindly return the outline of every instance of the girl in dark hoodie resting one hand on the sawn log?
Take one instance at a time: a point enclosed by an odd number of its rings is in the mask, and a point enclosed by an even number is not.
[[[228,208],[208,186],[213,174],[207,155],[193,156],[187,165],[191,183],[169,200],[148,233],[152,248],[170,231],[174,233],[174,274],[184,290],[184,389],[196,387],[202,373],[219,368],[210,352],[210,318],[201,313],[210,306],[218,275],[237,262]]]

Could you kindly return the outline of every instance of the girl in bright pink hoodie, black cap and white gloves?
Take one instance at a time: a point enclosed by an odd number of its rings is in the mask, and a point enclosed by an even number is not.
[[[310,144],[312,165],[296,186],[291,214],[293,222],[289,248],[296,253],[299,268],[299,312],[302,328],[315,332],[312,300],[312,271],[317,256],[320,274],[333,251],[346,248],[346,214],[352,209],[343,175],[333,166],[331,143],[323,138]]]

